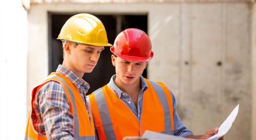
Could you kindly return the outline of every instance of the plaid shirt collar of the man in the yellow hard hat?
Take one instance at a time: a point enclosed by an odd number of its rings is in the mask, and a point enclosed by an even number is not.
[[[69,70],[67,67],[63,65],[59,65],[56,72],[68,77],[74,85],[77,86],[77,88],[84,87],[84,89],[89,90],[90,85],[86,81],[84,81],[82,78],[77,77],[71,70]]]

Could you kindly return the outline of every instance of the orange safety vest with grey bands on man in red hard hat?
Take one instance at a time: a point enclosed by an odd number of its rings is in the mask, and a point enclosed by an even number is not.
[[[89,95],[100,140],[141,136],[145,130],[174,134],[172,95],[162,82],[145,81],[140,120],[108,85]]]

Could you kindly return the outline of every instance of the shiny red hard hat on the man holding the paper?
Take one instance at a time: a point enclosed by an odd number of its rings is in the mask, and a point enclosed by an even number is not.
[[[139,29],[126,29],[115,39],[110,50],[124,60],[150,61],[154,52],[151,50],[150,38]]]

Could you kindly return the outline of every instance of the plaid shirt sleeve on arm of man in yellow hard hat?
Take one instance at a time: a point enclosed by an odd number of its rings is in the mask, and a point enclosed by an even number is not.
[[[38,91],[38,103],[48,139],[74,139],[73,115],[62,85],[46,83]]]

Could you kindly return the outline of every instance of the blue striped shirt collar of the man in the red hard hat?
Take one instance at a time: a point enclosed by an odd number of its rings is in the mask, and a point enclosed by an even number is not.
[[[108,83],[108,86],[117,94],[118,98],[121,98],[122,94],[126,94],[126,93],[123,92],[122,90],[120,90],[116,86],[116,84],[114,82],[115,79],[116,79],[116,74],[111,77],[110,82]],[[141,81],[141,89],[140,90],[142,91],[142,93],[144,93],[144,91],[147,90],[148,86],[147,86],[147,83],[143,76],[140,76],[140,81]]]

